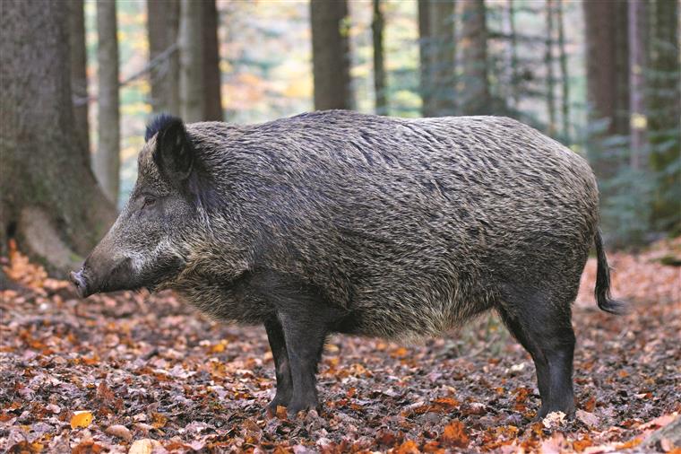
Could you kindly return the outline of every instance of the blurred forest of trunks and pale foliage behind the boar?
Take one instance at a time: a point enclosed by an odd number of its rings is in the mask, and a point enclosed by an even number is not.
[[[237,123],[311,109],[509,116],[589,159],[611,246],[681,229],[677,0],[0,8],[0,253],[15,239],[51,271],[107,230],[159,112]]]

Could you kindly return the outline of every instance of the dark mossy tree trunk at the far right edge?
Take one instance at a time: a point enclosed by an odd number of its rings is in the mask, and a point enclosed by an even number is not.
[[[651,170],[659,178],[652,221],[659,230],[681,231],[681,71],[678,3],[656,0],[651,24],[651,102],[648,127]]]

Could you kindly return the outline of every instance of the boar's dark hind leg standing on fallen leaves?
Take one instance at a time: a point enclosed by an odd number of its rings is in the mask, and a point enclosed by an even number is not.
[[[570,304],[525,298],[504,305],[499,312],[534,360],[541,396],[538,416],[561,411],[572,417],[574,332]]]

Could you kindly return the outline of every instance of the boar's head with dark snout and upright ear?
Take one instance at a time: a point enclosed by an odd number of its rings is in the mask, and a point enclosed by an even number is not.
[[[71,273],[82,297],[153,290],[185,266],[183,244],[200,217],[202,165],[179,118],[157,118],[145,138],[130,199],[82,268]]]

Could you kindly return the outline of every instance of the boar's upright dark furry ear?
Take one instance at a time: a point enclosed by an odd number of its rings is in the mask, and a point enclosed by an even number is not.
[[[182,185],[194,167],[194,148],[180,118],[165,117],[159,125],[153,160],[163,177],[175,185]]]

